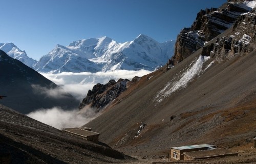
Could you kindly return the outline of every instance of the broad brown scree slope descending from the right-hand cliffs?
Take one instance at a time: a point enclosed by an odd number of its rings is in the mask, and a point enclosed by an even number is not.
[[[255,133],[244,127],[256,126],[255,50],[214,63],[201,53],[199,49],[87,126],[101,133],[100,140],[130,153],[184,144],[243,144]],[[135,138],[142,124],[147,126]],[[222,135],[226,127],[230,133]]]

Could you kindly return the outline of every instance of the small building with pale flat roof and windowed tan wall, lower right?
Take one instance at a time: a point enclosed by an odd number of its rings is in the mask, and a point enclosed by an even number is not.
[[[170,157],[176,160],[184,160],[184,153],[191,151],[199,151],[199,150],[212,150],[216,149],[215,145],[189,145],[189,146],[180,146],[180,147],[172,147],[170,149]]]

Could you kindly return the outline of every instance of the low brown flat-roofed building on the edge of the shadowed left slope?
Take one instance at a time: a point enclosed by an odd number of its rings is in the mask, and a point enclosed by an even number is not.
[[[91,131],[90,128],[85,127],[73,127],[73,128],[63,128],[62,129],[65,132],[69,132],[75,135],[78,135],[88,141],[92,141],[94,143],[99,142],[99,134],[97,132]]]

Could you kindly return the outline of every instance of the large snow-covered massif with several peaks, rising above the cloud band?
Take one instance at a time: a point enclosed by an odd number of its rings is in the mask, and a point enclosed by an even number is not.
[[[143,34],[125,43],[109,37],[83,39],[68,46],[57,45],[34,69],[52,73],[154,70],[173,56],[174,44],[174,40],[159,43]]]

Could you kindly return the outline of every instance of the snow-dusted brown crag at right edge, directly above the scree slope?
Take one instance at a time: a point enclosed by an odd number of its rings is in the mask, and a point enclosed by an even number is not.
[[[244,56],[255,49],[256,10],[241,15],[233,25],[230,36],[218,38],[215,43],[203,47],[202,54],[223,62],[237,54]]]

